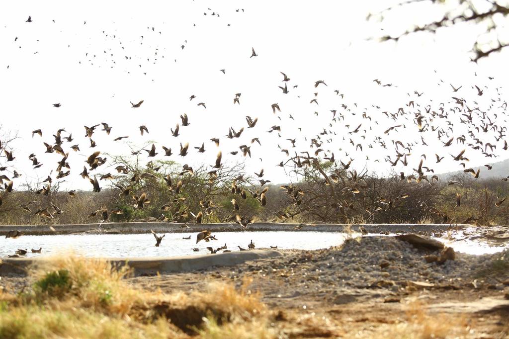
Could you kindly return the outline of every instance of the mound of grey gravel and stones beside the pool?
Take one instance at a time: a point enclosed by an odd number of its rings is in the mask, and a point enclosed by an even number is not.
[[[293,291],[316,291],[334,295],[342,290],[386,290],[401,292],[409,281],[428,283],[428,288],[463,289],[489,288],[504,290],[509,270],[497,275],[482,273],[492,267],[496,259],[504,258],[509,265],[509,251],[494,255],[466,255],[456,253],[456,260],[443,264],[427,263],[426,255],[439,255],[439,251],[426,251],[394,237],[363,237],[347,240],[341,247],[316,251],[288,253],[284,258],[255,262],[239,267],[238,275],[245,271],[259,272],[272,281],[282,279]],[[419,287],[417,287],[419,288]]]

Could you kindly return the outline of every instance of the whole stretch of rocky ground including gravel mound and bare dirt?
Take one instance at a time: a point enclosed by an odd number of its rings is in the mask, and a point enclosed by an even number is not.
[[[238,267],[128,279],[163,292],[200,290],[211,281],[249,284],[289,323],[290,337],[509,337],[509,251],[427,263],[433,254],[440,250],[364,237]],[[11,291],[27,285],[23,277],[1,282]],[[307,333],[310,319],[323,331]]]

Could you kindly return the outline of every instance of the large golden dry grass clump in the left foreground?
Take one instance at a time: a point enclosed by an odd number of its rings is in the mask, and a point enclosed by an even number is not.
[[[0,294],[0,337],[239,337],[242,331],[273,337],[266,329],[269,313],[248,289],[250,281],[239,290],[216,283],[203,292],[168,295],[131,287],[124,280],[128,273],[74,255],[33,267],[32,291]]]

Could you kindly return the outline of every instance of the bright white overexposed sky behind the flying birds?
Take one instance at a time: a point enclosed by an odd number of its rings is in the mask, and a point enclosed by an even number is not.
[[[408,121],[403,118],[395,122],[381,111],[394,113],[399,107],[416,111],[405,106],[412,99],[421,107],[433,100],[433,110],[438,110],[438,103],[450,101],[451,96],[463,97],[471,108],[477,106],[472,103],[475,100],[479,107],[487,110],[490,98],[500,98],[495,88],[505,88],[509,81],[507,51],[494,54],[478,65],[469,62],[468,51],[482,33],[482,27],[472,25],[441,30],[434,36],[416,34],[398,43],[367,40],[371,36],[401,32],[411,23],[425,22],[440,13],[432,10],[431,4],[423,3],[412,11],[394,12],[382,24],[365,20],[368,13],[376,13],[393,3],[379,0],[348,3],[6,2],[0,12],[0,93],[3,98],[0,124],[3,130],[18,131],[21,137],[12,145],[17,159],[8,172],[16,168],[28,180],[37,176],[46,178],[61,156],[44,154],[42,142],[52,144],[51,134],[59,128],[72,132],[75,138],[72,143],[65,143],[64,149],[74,144],[79,144],[81,149],[77,153],[70,151],[71,176],[65,179],[73,188],[91,189],[90,183],[78,173],[83,161],[94,151],[130,153],[124,141],[112,142],[117,136],[129,135],[128,142],[140,147],[149,141],[156,142],[160,153],[156,159],[162,159],[161,145],[171,147],[178,154],[179,143],[189,142],[187,157],[173,155],[167,159],[182,164],[210,165],[215,161],[217,149],[209,139],[228,134],[230,126],[245,130],[238,139],[221,140],[219,149],[223,153],[223,163],[246,161],[250,174],[263,167],[264,179],[272,182],[294,179],[275,166],[284,159],[277,145],[291,152],[309,150],[310,138],[324,127],[337,135],[332,136],[332,143],[322,148],[334,152],[337,160],[346,162],[350,156],[355,158],[353,164],[358,169],[366,165],[371,171],[387,173],[390,167],[383,159],[387,155],[394,159],[395,154],[390,140],[400,139],[405,144],[420,142],[421,135],[430,146],[412,152],[409,157],[412,166],[403,169],[398,166],[395,170],[402,169],[410,174],[411,167],[417,166],[423,153],[428,155],[425,165],[435,168],[437,173],[462,169],[447,153],[456,155],[464,146],[455,143],[444,150],[436,140],[436,132],[418,133],[412,121],[413,114],[406,116]],[[244,12],[236,12],[236,9],[244,9]],[[219,17],[213,16],[213,12],[219,13]],[[25,22],[29,15],[31,23]],[[380,31],[381,27],[385,27],[385,33]],[[256,58],[249,58],[251,47],[259,54]],[[220,69],[225,69],[226,74]],[[289,94],[282,94],[278,88],[284,86],[280,71],[291,78]],[[489,80],[488,76],[495,79]],[[375,78],[382,84],[393,83],[398,87],[379,87],[372,81]],[[440,79],[444,81],[441,86],[438,85]],[[320,85],[315,89],[317,80],[324,80],[328,86]],[[463,85],[463,88],[453,93],[449,82],[456,87]],[[474,84],[480,88],[489,87],[483,97],[478,97],[471,88]],[[294,89],[294,85],[298,88]],[[335,89],[344,93],[345,98],[336,96]],[[425,94],[415,98],[415,90]],[[318,106],[309,103],[315,98],[315,92],[318,92]],[[233,104],[235,93],[242,93],[240,105]],[[190,95],[196,98],[189,101]],[[501,98],[505,100],[503,95]],[[131,108],[129,101],[142,99],[145,102],[141,107]],[[199,102],[204,102],[207,108],[197,106]],[[62,107],[52,107],[53,103],[61,103]],[[281,107],[278,114],[281,120],[272,114],[272,103]],[[345,111],[342,103],[356,115]],[[345,121],[329,128],[330,109],[342,112]],[[371,123],[362,119],[364,111],[372,117]],[[181,136],[173,137],[169,129],[181,123],[179,116],[184,112],[191,125],[181,126]],[[289,114],[295,121],[288,119]],[[246,115],[259,118],[256,128],[246,128]],[[506,115],[499,114],[496,121],[499,126],[508,125]],[[113,127],[111,134],[107,136],[100,131],[102,127],[96,129],[92,139],[97,147],[90,149],[83,125],[101,122]],[[355,152],[349,144],[350,136],[345,134],[359,123],[363,123],[361,131],[369,126],[373,128],[366,133],[366,140],[361,138],[363,132],[351,136],[354,144],[363,145],[364,152]],[[381,131],[400,123],[406,128],[384,136],[387,150],[373,143],[375,135],[382,136]],[[436,124],[447,127],[443,122]],[[148,136],[140,136],[140,125],[148,127]],[[281,138],[276,133],[266,133],[272,125],[281,126]],[[302,127],[302,132],[297,127]],[[38,128],[43,130],[42,139],[31,136],[31,131]],[[467,134],[460,124],[454,128],[451,136]],[[487,135],[489,137],[483,136],[485,142],[494,144],[494,133]],[[250,146],[253,137],[260,138],[262,147],[252,145],[252,159],[228,154],[238,150],[240,145]],[[328,137],[324,135],[323,139]],[[297,138],[297,148],[292,149],[287,138]],[[207,152],[196,153],[192,147],[201,146],[202,142]],[[373,149],[368,148],[370,143]],[[480,153],[467,150],[468,166],[507,158],[507,152],[501,150],[502,144],[500,141],[495,150],[498,158],[486,159]],[[35,153],[45,166],[32,170],[27,158],[30,153]],[[446,158],[435,164],[435,153]],[[370,160],[365,160],[366,156]],[[374,162],[375,159],[380,162]],[[100,167],[99,173],[107,172],[116,173],[112,167]]]

